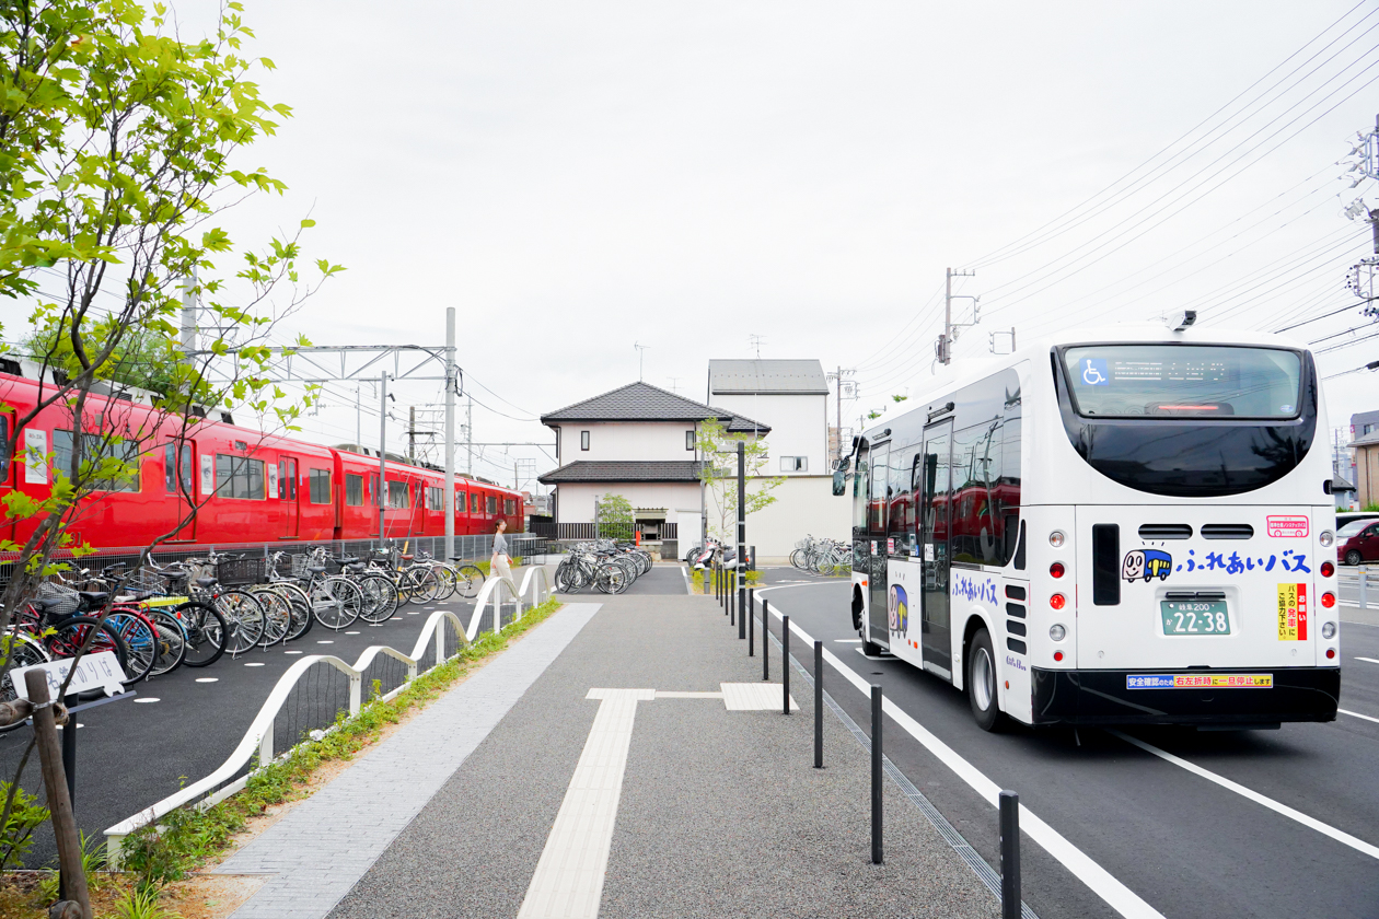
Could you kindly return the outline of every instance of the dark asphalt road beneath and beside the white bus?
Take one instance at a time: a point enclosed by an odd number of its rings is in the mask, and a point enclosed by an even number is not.
[[[1379,860],[1099,729],[982,732],[967,697],[894,659],[863,657],[847,581],[765,572],[765,594],[848,667],[1165,916],[1379,916]],[[793,581],[793,583],[790,583]],[[779,621],[772,620],[779,635]],[[1379,627],[1343,620],[1342,708],[1379,719]],[[812,653],[792,648],[812,671]],[[1371,660],[1361,660],[1371,659]],[[832,671],[832,672],[830,672]],[[863,727],[866,697],[826,667],[826,686]],[[1379,845],[1379,721],[1339,715],[1276,732],[1132,729],[1128,736]],[[885,752],[968,842],[998,864],[996,812],[895,722]],[[894,843],[892,843],[894,845]],[[1026,902],[1044,918],[1116,915],[1025,836]]]

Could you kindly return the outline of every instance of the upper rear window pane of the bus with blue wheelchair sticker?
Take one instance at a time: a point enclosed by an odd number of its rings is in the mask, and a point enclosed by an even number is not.
[[[1296,417],[1296,351],[1212,344],[1092,344],[1063,351],[1084,417]]]

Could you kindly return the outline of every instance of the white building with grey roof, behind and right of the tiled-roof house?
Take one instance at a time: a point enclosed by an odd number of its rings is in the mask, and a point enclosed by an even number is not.
[[[833,496],[827,400],[815,360],[709,361],[709,404],[768,424],[761,473],[785,478],[772,492],[776,500],[747,517],[747,541],[764,562],[787,559],[807,533],[851,537],[851,506]]]

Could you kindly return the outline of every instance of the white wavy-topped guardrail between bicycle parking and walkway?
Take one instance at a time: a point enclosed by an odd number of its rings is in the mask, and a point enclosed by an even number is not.
[[[124,838],[135,829],[161,820],[168,812],[175,810],[182,805],[194,802],[203,795],[208,796],[200,801],[196,806],[211,807],[230,795],[243,791],[248,784],[248,778],[252,772],[240,776],[233,781],[229,780],[237,772],[244,769],[255,754],[258,754],[259,763],[273,762],[273,721],[287,703],[287,697],[291,694],[298,681],[301,681],[312,667],[325,664],[349,677],[349,714],[353,718],[359,714],[360,708],[363,708],[364,674],[368,671],[370,664],[374,663],[374,659],[379,654],[385,654],[407,664],[407,679],[403,685],[382,696],[383,701],[387,701],[397,696],[397,693],[403,692],[407,688],[407,683],[416,679],[416,667],[422,656],[426,653],[429,642],[436,643],[436,664],[443,664],[447,660],[451,660],[458,656],[463,648],[467,648],[470,642],[474,641],[479,631],[485,603],[494,612],[492,631],[499,631],[502,628],[502,594],[506,594],[507,598],[517,605],[517,615],[513,617],[513,621],[517,621],[523,615],[524,598],[527,598],[525,609],[539,606],[550,599],[550,581],[546,579],[546,570],[539,565],[528,568],[516,597],[513,595],[512,581],[499,577],[488,577],[484,581],[483,588],[479,591],[479,597],[474,599],[474,612],[469,619],[469,627],[466,628],[455,613],[439,609],[426,620],[421,635],[416,637],[416,645],[412,648],[411,654],[404,654],[396,648],[390,648],[387,645],[372,645],[364,649],[364,653],[359,656],[359,660],[356,660],[353,665],[346,664],[343,660],[332,654],[309,654],[295,661],[287,668],[287,672],[279,678],[277,685],[273,686],[273,692],[269,693],[263,707],[259,708],[259,712],[250,725],[250,729],[244,733],[244,739],[240,741],[239,747],[234,748],[234,752],[230,754],[229,759],[221,763],[219,769],[212,772],[205,778],[186,785],[177,794],[168,795],[152,807],[146,807],[135,816],[121,820],[105,831],[106,854],[110,867],[117,868],[120,865]],[[455,653],[450,657],[445,656],[444,624],[450,624],[454,628],[455,638],[462,639],[462,643],[461,641],[456,641]],[[284,751],[284,755],[288,752],[291,752],[291,750]],[[217,791],[222,783],[229,784],[225,784],[225,787]]]

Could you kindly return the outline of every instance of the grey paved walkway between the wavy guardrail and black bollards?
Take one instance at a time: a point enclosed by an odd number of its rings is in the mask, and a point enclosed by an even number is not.
[[[222,863],[266,875],[234,916],[1000,915],[889,778],[872,864],[869,754],[827,711],[814,767],[776,645],[683,581],[581,599]]]

